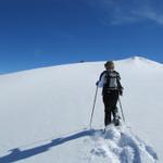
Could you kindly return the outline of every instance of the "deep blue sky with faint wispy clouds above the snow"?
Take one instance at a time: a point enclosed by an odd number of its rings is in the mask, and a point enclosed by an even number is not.
[[[0,73],[141,55],[163,62],[159,0],[1,0]]]

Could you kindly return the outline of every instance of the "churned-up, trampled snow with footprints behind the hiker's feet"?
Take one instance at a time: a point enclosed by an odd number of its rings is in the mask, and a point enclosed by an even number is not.
[[[155,151],[128,127],[109,126],[105,133],[95,131],[89,162],[156,163]]]

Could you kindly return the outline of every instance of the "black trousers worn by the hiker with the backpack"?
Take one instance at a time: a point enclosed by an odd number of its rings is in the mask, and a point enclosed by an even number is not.
[[[109,125],[112,122],[112,115],[114,118],[118,117],[116,103],[118,100],[118,90],[111,90],[103,95],[104,103],[104,125]]]

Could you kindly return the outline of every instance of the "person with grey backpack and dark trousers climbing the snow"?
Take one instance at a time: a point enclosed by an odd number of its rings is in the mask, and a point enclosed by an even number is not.
[[[98,87],[102,87],[102,97],[104,103],[104,125],[108,126],[112,122],[114,125],[120,125],[120,115],[117,112],[118,96],[123,95],[120,74],[114,71],[114,62],[108,61],[104,64],[105,71],[100,75],[97,82]],[[113,116],[113,120],[112,120]]]

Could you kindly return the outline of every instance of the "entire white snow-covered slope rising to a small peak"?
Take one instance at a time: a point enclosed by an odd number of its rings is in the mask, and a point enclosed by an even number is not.
[[[87,127],[103,63],[1,75],[0,163],[104,163],[108,159],[125,163],[126,158],[129,163],[150,163],[158,158],[163,162],[163,65],[138,57],[115,62],[125,88],[121,100],[127,124],[123,131],[111,127],[102,135],[101,90],[95,130]],[[108,136],[111,133],[116,140]]]

